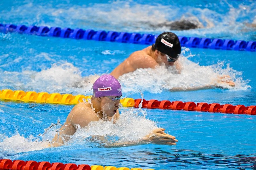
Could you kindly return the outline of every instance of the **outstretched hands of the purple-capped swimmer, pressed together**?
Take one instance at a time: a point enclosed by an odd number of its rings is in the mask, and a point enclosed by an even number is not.
[[[154,129],[149,135],[144,137],[145,142],[153,142],[155,144],[166,144],[166,145],[176,145],[178,140],[176,137],[169,135],[164,132],[164,128]]]

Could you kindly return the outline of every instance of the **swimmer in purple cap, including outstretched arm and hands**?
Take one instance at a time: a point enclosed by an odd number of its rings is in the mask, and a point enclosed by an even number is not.
[[[67,142],[68,136],[74,135],[78,126],[84,128],[92,121],[110,121],[119,118],[120,97],[122,88],[116,78],[111,75],[102,75],[92,85],[93,96],[91,102],[80,102],[73,107],[68,114],[65,124],[58,130],[49,146],[64,145],[63,139]],[[116,143],[109,147],[131,146],[138,144],[166,144],[176,145],[178,140],[174,136],[166,134],[163,128],[156,128],[146,137],[138,142]]]

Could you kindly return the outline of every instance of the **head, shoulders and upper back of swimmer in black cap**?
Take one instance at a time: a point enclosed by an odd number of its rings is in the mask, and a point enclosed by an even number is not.
[[[181,70],[180,64],[177,62],[180,53],[181,46],[178,36],[172,32],[164,32],[158,35],[155,44],[133,52],[110,75],[119,78],[123,74],[139,68],[155,68],[163,63],[166,67],[175,65],[177,70]]]

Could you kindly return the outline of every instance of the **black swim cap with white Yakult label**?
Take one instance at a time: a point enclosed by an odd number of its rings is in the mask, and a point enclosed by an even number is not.
[[[172,58],[179,58],[181,52],[180,40],[175,33],[164,32],[156,38],[155,48]]]

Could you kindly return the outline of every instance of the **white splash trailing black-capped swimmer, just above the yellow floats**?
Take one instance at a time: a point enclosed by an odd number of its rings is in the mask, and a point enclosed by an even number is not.
[[[30,85],[36,87],[41,84],[40,88],[48,92],[91,95],[92,84],[97,78],[99,75],[82,77],[79,69],[71,63],[55,63],[50,69],[36,73]]]

